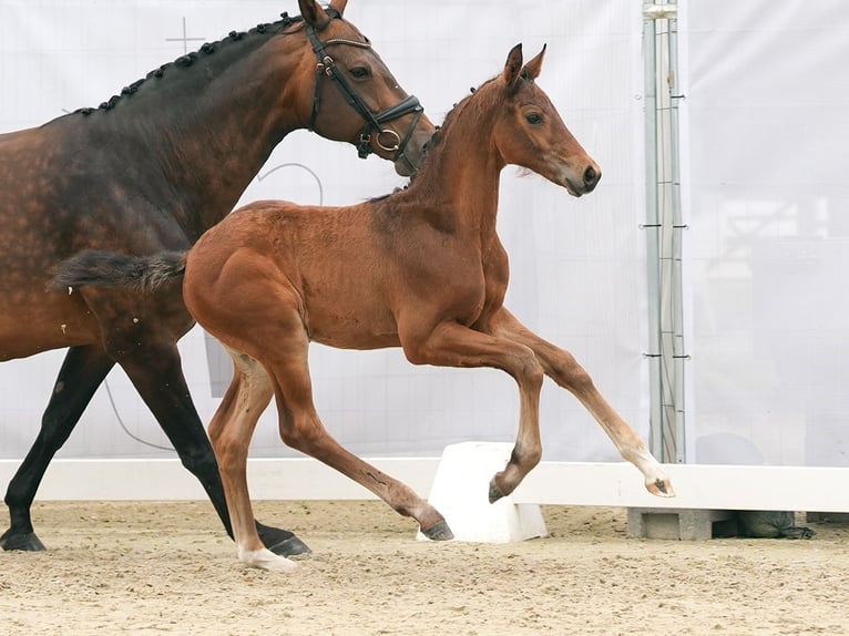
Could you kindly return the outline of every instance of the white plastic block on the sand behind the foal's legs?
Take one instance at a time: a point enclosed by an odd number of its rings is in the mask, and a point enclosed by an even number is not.
[[[511,543],[548,536],[538,504],[512,496],[489,502],[489,483],[504,469],[513,444],[461,442],[444,448],[428,501],[446,517],[454,541]],[[427,537],[419,532],[419,540]]]

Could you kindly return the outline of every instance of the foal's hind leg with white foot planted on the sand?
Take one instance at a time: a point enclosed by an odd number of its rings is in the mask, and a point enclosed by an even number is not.
[[[256,360],[227,348],[233,380],[209,422],[209,439],[221,468],[238,558],[263,570],[291,571],[297,564],[267,550],[254,524],[247,488],[247,453],[259,416],[274,396],[268,375]]]

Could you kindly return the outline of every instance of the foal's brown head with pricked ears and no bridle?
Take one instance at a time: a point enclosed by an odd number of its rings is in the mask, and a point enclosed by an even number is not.
[[[510,51],[501,75],[478,92],[485,90],[487,99],[497,104],[492,140],[503,164],[525,167],[565,187],[571,195],[581,196],[595,188],[602,171],[534,82],[544,54],[545,47],[523,64],[522,45],[518,44]]]

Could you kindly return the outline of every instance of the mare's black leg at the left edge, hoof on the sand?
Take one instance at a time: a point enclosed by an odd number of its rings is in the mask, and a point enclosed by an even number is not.
[[[6,492],[9,530],[0,536],[3,550],[44,550],[32,529],[30,507],[48,464],[80,421],[94,391],[115,362],[96,346],[72,347],[53,384],[41,418],[41,430]]]

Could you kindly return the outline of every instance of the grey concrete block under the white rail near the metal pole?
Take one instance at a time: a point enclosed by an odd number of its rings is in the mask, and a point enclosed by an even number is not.
[[[727,510],[630,507],[628,536],[702,541],[737,534],[736,515]]]

